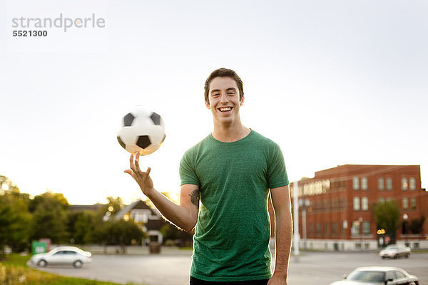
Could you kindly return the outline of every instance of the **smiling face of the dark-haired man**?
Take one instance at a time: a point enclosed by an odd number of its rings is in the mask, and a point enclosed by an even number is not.
[[[244,98],[240,100],[238,86],[230,77],[216,77],[210,82],[208,100],[205,105],[213,113],[215,123],[240,123],[239,108]]]

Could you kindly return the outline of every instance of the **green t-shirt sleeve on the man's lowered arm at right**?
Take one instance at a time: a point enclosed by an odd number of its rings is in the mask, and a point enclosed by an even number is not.
[[[275,143],[270,148],[269,160],[267,162],[267,187],[272,189],[289,184],[284,156],[282,155],[280,146]]]

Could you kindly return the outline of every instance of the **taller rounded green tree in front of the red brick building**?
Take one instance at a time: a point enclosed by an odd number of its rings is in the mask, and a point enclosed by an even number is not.
[[[399,204],[397,201],[377,202],[373,206],[374,219],[376,220],[377,227],[385,229],[391,243],[395,244],[397,229],[401,226],[399,218],[401,212],[399,211]]]

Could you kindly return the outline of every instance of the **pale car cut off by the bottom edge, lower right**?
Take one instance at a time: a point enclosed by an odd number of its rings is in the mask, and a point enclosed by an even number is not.
[[[335,281],[330,285],[419,285],[417,276],[410,275],[404,269],[389,266],[358,267],[343,280]]]

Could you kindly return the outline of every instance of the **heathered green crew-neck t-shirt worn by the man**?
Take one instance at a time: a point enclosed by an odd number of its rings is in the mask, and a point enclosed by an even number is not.
[[[269,189],[288,185],[280,147],[251,130],[236,142],[208,135],[180,161],[181,185],[198,185],[190,275],[205,281],[269,279]]]

